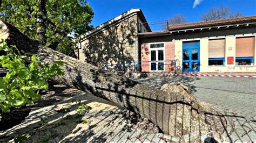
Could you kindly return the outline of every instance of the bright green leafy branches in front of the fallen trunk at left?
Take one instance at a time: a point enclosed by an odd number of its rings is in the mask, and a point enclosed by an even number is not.
[[[64,64],[62,61],[43,65],[36,60],[36,55],[30,58],[21,55],[16,47],[8,47],[4,41],[0,43],[0,51],[6,52],[0,56],[0,66],[9,69],[5,77],[0,77],[0,109],[3,112],[8,112],[11,107],[33,104],[41,97],[39,90],[48,89],[46,80],[49,77],[64,75],[60,68]]]

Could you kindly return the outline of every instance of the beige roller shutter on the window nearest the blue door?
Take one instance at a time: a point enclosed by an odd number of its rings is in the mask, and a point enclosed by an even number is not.
[[[225,39],[209,40],[209,58],[225,58]]]

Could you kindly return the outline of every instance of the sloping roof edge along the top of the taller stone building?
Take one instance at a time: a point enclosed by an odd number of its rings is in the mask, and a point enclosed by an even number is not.
[[[145,16],[143,15],[143,12],[141,9],[130,9],[110,20],[108,20],[107,22],[95,27],[93,30],[91,30],[90,32],[85,33],[84,35],[82,35],[82,40],[84,41],[85,39],[89,38],[91,35],[97,33],[98,31],[101,30],[105,30],[105,28],[112,26],[113,24],[119,23],[119,20],[125,19],[125,18],[129,18],[130,16],[132,16],[133,14],[137,13],[140,17],[140,20],[142,20],[142,23],[147,23],[147,20],[145,18]],[[81,42],[80,41],[80,42]]]

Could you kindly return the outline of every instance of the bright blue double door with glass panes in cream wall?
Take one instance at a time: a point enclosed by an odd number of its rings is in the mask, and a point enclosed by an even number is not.
[[[197,72],[200,67],[199,41],[185,41],[182,44],[182,71]]]

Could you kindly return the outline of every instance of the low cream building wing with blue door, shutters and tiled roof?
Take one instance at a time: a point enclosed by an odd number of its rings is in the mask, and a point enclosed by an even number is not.
[[[176,72],[200,73],[256,73],[256,16],[214,20],[210,22],[173,25],[169,31],[139,33],[141,45],[154,43],[166,45],[173,42],[173,49],[164,47],[161,59],[166,64],[175,61]],[[142,51],[143,53],[150,53]],[[145,61],[154,61],[149,54]],[[174,58],[170,58],[174,55]],[[159,61],[158,61],[159,62]],[[159,71],[159,65],[151,65],[144,71]]]

